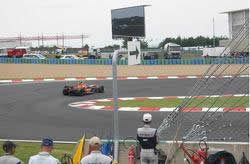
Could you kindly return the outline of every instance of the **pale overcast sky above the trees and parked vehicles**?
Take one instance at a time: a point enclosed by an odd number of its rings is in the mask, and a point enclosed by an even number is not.
[[[146,40],[156,45],[165,37],[228,35],[228,18],[220,12],[249,8],[248,0],[1,0],[0,37],[88,34],[85,42],[103,47],[113,43],[111,9],[146,8]],[[56,44],[50,42],[47,44]],[[81,41],[65,41],[78,47]],[[37,44],[34,43],[34,46]]]

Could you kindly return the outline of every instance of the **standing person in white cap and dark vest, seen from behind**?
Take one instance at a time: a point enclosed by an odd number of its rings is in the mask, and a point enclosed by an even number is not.
[[[152,115],[143,115],[144,126],[137,129],[137,140],[141,145],[141,164],[157,164],[157,129],[151,128]]]

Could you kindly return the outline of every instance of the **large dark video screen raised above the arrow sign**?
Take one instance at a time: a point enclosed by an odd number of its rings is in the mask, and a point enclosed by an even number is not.
[[[111,10],[112,38],[145,37],[144,6]]]

